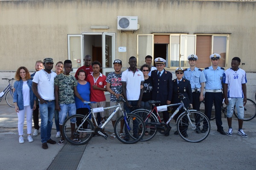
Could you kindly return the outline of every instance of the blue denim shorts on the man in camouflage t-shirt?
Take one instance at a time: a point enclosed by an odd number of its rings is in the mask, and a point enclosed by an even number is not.
[[[59,124],[63,125],[65,119],[67,118],[67,113],[68,116],[76,115],[76,104],[60,104],[60,109],[59,111]],[[70,120],[71,123],[76,123],[76,118]]]

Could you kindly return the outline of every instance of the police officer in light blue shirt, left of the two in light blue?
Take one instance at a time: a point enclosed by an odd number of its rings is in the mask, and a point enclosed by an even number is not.
[[[192,89],[192,97],[193,97],[193,109],[200,111],[200,101],[204,100],[204,82],[206,81],[204,72],[202,69],[198,69],[196,65],[196,61],[198,60],[197,55],[189,55],[189,68],[184,69],[183,78],[190,81],[191,89]],[[195,116],[196,123],[200,121],[199,116]],[[199,127],[200,124],[197,124]],[[196,130],[196,133],[200,133],[200,129]]]

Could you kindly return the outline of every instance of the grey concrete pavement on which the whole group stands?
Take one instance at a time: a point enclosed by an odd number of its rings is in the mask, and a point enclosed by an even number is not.
[[[222,118],[224,130],[227,131],[227,120]],[[174,135],[175,124],[171,121],[172,130],[168,137],[159,133],[147,142],[122,144],[117,139],[94,137],[87,144],[78,170],[183,170],[183,169],[234,169],[254,170],[256,166],[256,118],[244,122],[244,132],[248,138],[237,134],[238,122],[233,118],[233,135],[221,135],[216,131],[215,121],[211,121],[212,129],[204,141],[188,143]],[[106,131],[113,132],[109,124]],[[55,138],[53,125],[52,139]],[[24,128],[26,133],[26,128]],[[0,104],[0,170],[46,170],[61,149],[67,145],[48,144],[49,148],[41,148],[40,134],[29,143],[24,135],[25,143],[18,143],[17,113],[14,108]],[[78,146],[73,146],[77,152]],[[77,149],[77,150],[76,150]],[[71,152],[71,151],[70,151]],[[67,153],[68,154],[68,153]],[[62,161],[67,161],[66,158]],[[70,164],[73,162],[70,161]],[[60,164],[57,168],[63,170]]]

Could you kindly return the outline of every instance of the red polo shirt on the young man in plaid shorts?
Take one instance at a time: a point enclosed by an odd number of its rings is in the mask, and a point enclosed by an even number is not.
[[[99,78],[97,81],[94,83],[94,77],[92,74],[88,75],[87,81],[90,83],[90,101],[106,101],[106,97],[103,91],[101,90],[96,90],[93,89],[93,85],[97,85],[99,88],[106,88],[107,82],[106,82],[107,77],[105,75],[102,75],[100,73]]]

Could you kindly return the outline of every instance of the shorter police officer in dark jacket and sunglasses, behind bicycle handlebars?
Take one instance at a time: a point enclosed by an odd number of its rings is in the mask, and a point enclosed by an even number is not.
[[[189,104],[192,104],[192,90],[191,90],[191,86],[190,86],[190,82],[189,80],[186,80],[183,78],[183,73],[184,70],[181,67],[178,67],[175,70],[175,74],[176,74],[176,79],[174,79],[173,82],[173,89],[172,89],[172,104],[176,104],[176,103],[180,103],[180,97],[179,94],[183,94],[185,97],[189,98]],[[174,112],[177,109],[178,106],[173,107],[172,111]],[[182,110],[180,110],[177,115],[175,115],[174,119],[175,121],[177,121],[177,118],[179,117],[179,115],[181,114]],[[183,120],[185,121],[187,124],[188,123],[188,119]],[[181,125],[179,125],[181,126]],[[182,131],[182,135],[186,138],[188,137],[187,133],[186,133],[186,127],[180,127],[180,129],[183,129]],[[175,131],[174,133],[175,135],[178,135],[178,132]]]

